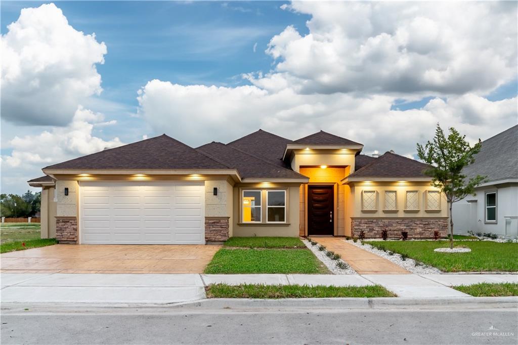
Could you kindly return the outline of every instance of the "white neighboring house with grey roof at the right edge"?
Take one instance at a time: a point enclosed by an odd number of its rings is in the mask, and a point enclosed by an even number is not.
[[[486,181],[453,204],[453,231],[518,236],[518,125],[484,140],[464,174]]]

